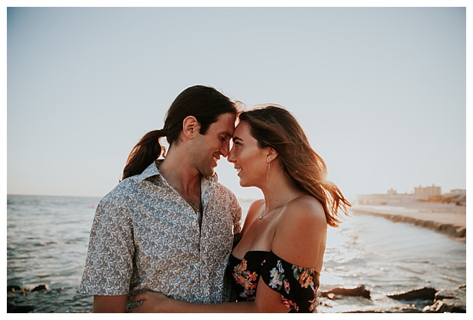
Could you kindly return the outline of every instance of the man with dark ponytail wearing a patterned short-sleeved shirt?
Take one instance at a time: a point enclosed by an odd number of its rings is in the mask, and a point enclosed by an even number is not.
[[[162,130],[134,147],[123,180],[101,199],[90,232],[80,293],[93,312],[125,312],[129,297],[158,291],[175,299],[228,301],[224,273],[241,231],[237,197],[217,182],[237,106],[193,86],[171,104]],[[166,136],[169,151],[157,160]]]

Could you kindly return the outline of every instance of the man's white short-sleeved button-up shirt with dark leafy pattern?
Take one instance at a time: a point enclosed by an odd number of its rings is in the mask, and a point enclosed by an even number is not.
[[[237,197],[202,179],[202,227],[194,209],[151,164],[123,180],[97,206],[80,293],[158,291],[199,303],[228,301],[223,286],[234,238],[241,232]]]

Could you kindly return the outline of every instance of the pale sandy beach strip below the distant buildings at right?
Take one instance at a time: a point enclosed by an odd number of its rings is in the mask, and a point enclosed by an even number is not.
[[[353,214],[374,214],[396,222],[413,223],[466,241],[466,206],[415,201],[389,206],[354,205]]]

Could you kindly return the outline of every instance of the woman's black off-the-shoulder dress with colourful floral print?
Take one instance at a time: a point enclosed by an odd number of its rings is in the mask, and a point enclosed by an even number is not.
[[[232,286],[237,301],[253,301],[261,277],[281,294],[281,302],[290,312],[309,312],[320,278],[315,269],[295,266],[272,251],[248,251],[243,260],[231,255],[227,273],[237,282]]]

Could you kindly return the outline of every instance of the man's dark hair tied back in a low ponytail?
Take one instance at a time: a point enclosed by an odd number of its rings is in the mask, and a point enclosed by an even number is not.
[[[228,112],[237,115],[237,104],[215,88],[208,86],[186,88],[171,103],[162,130],[148,132],[133,147],[123,169],[122,180],[142,173],[161,154],[166,155],[166,150],[160,142],[163,136],[167,138],[169,145],[179,143],[182,121],[187,116],[195,116],[200,123],[200,134],[206,134],[208,127],[216,122],[221,114]]]

